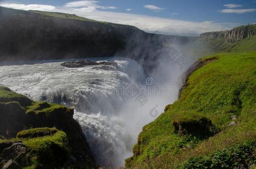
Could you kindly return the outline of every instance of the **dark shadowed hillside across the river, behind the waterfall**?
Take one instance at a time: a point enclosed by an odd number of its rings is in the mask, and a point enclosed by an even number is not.
[[[3,7],[0,7],[0,32],[0,61],[118,55],[144,63],[144,51],[158,50],[163,41],[184,44],[197,39],[145,33],[134,26],[66,13]],[[147,55],[157,56],[152,52]]]

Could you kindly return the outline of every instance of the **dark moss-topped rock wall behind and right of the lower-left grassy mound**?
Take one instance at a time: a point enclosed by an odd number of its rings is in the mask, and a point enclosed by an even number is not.
[[[5,101],[10,102],[5,103]],[[0,102],[4,102],[0,103],[0,135],[10,139],[19,131],[24,130],[24,127],[56,127],[67,134],[68,144],[71,146],[71,156],[76,159],[71,160],[72,166],[74,168],[95,167],[94,157],[81,126],[73,119],[73,108],[48,104],[45,101],[34,102],[3,86],[0,86]],[[26,107],[21,106],[23,105],[21,103],[24,103]],[[29,105],[25,103],[29,103]],[[7,146],[10,144],[0,144],[0,150]]]

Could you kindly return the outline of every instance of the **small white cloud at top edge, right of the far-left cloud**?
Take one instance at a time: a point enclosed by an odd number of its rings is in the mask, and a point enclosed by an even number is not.
[[[83,10],[86,12],[92,12],[97,9],[115,9],[115,6],[99,6],[97,3],[99,1],[96,0],[79,0],[79,1],[72,1],[70,3],[65,3],[63,5],[65,8],[83,8]]]

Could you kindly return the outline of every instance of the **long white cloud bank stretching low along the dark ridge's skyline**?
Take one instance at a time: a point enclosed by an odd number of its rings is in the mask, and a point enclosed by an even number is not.
[[[9,3],[9,4],[5,4],[5,6],[6,5],[8,5],[8,8],[21,9],[20,5],[22,4]],[[0,3],[0,6],[3,6],[3,3]],[[24,8],[24,6],[26,8]],[[23,7],[22,9],[24,10],[30,9],[27,7],[29,5],[24,5],[24,6],[22,5]],[[209,32],[209,31],[227,30],[240,25],[240,23],[214,23],[212,21],[192,22],[188,20],[176,20],[176,19],[152,17],[148,15],[136,15],[131,13],[116,13],[116,12],[95,10],[95,9],[88,10],[88,6],[80,7],[80,8],[79,7],[74,8],[74,6],[72,8],[57,7],[57,8],[51,8],[50,11],[76,14],[81,17],[99,20],[99,21],[134,25],[137,28],[140,28],[146,32],[165,33],[170,35],[199,35],[200,33]]]

